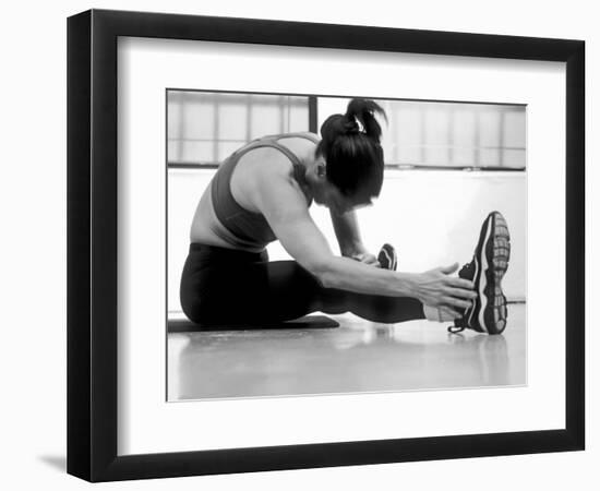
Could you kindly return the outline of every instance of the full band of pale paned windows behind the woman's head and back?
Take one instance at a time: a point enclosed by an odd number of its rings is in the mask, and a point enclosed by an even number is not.
[[[523,105],[377,100],[385,109],[387,166],[524,170]],[[169,167],[217,167],[247,142],[275,133],[317,131],[348,99],[168,91]],[[312,122],[314,121],[314,123]]]

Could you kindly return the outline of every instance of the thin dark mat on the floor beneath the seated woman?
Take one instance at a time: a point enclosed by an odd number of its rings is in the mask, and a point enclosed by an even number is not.
[[[197,331],[248,331],[248,330],[329,330],[339,327],[339,323],[325,315],[305,315],[293,321],[273,324],[194,324],[187,319],[168,321],[169,333],[192,333]]]

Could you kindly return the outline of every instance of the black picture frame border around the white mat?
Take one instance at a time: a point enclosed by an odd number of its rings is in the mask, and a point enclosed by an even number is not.
[[[118,456],[118,36],[566,62],[565,429]],[[584,99],[581,40],[99,10],[70,17],[68,472],[109,481],[583,450]]]

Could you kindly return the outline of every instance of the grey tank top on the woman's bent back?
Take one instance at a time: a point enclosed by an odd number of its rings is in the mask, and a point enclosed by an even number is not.
[[[231,194],[231,175],[244,154],[254,148],[272,147],[291,160],[295,178],[301,182],[304,168],[299,158],[288,147],[278,143],[279,140],[286,137],[303,137],[319,143],[319,137],[310,133],[285,133],[255,139],[227,157],[211,181],[211,200],[215,216],[218,225],[226,228],[229,233],[219,233],[218,227],[213,227],[213,231],[236,249],[263,250],[268,242],[273,242],[277,237],[261,213],[250,212],[235,200]]]

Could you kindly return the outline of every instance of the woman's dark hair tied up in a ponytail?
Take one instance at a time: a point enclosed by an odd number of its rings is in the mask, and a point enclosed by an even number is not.
[[[385,111],[369,99],[352,99],[345,115],[329,116],[321,127],[316,155],[326,161],[327,180],[345,195],[377,196],[383,184],[381,125]]]

